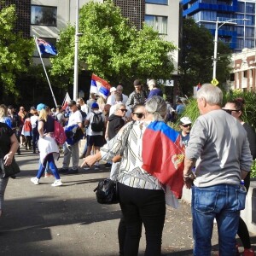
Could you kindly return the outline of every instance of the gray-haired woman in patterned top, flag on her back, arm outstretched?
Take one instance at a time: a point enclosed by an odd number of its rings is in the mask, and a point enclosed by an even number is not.
[[[149,152],[149,154],[156,154],[154,149],[157,149],[159,154],[164,152],[161,151],[164,143],[161,141],[161,137],[159,137],[159,131],[162,131],[162,128],[165,129],[165,134],[170,135],[171,132],[173,137],[177,137],[179,145],[181,144],[180,136],[165,124],[165,118],[166,102],[160,96],[154,96],[146,103],[145,119],[125,125],[116,137],[113,137],[108,144],[101,148],[100,152],[86,157],[82,164],[82,166],[92,166],[96,160],[110,160],[114,155],[119,154],[122,143],[127,145],[121,159],[117,178],[119,204],[126,225],[124,255],[137,255],[142,222],[146,230],[147,241],[144,255],[158,256],[161,253],[161,238],[166,217],[166,201],[164,185],[160,182],[161,178],[156,172],[158,174],[163,172],[162,174],[168,175],[165,164],[166,162],[172,164],[171,158],[174,156],[175,150],[172,153],[167,153],[168,159],[164,159],[163,155],[158,157],[157,167],[154,166],[156,158],[152,161],[152,157],[147,157],[147,154]],[[125,134],[130,130],[130,125],[132,125],[131,131],[127,141],[124,142]],[[156,127],[157,129],[155,129]],[[155,131],[153,136],[151,131]],[[144,143],[148,143],[148,145]],[[172,148],[172,143],[167,143],[166,145]],[[176,148],[179,148],[179,145],[177,144]],[[168,170],[170,170],[169,167]],[[176,174],[177,172],[173,174],[173,177]],[[179,183],[179,189],[182,189],[182,172],[179,172],[177,176],[178,180],[175,182]]]

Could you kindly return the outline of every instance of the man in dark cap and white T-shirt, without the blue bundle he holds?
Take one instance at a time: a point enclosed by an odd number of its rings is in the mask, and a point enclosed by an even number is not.
[[[67,127],[72,125],[79,125],[77,132],[79,129],[82,128],[82,114],[80,113],[77,102],[70,101],[68,102],[68,107],[71,110],[71,114],[68,119]],[[67,172],[67,174],[74,174],[78,173],[78,166],[79,166],[79,141],[76,143],[73,143],[73,145],[64,143],[63,144],[64,149],[64,158],[63,158],[63,166],[60,170],[60,172]],[[72,169],[68,171],[68,166],[70,163],[70,159],[72,157]]]

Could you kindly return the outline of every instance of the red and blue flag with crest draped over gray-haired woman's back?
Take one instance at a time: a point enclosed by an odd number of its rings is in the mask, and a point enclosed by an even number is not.
[[[143,169],[181,198],[184,148],[180,134],[165,122],[150,123],[143,134],[142,156]]]

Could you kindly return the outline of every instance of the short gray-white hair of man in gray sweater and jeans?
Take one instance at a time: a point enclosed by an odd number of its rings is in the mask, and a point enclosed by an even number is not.
[[[209,105],[222,106],[223,92],[212,84],[202,84],[201,89],[197,91],[198,99],[204,98]]]

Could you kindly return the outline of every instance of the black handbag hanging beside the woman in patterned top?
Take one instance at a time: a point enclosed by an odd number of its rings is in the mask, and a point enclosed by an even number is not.
[[[100,204],[110,205],[119,203],[117,183],[110,178],[100,181],[93,191],[96,192],[96,200]]]

